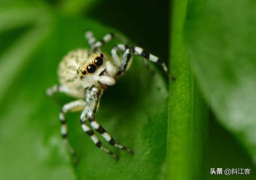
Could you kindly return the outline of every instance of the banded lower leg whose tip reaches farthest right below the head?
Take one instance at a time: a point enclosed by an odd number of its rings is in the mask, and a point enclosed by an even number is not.
[[[100,125],[98,124],[98,122],[95,121],[95,113],[96,110],[98,108],[98,103],[99,100],[96,98],[94,100],[92,100],[90,102],[89,108],[88,108],[88,113],[87,113],[87,117],[89,119],[89,122],[92,126],[92,128],[94,128],[94,130],[96,130],[98,133],[100,133],[100,135],[112,146],[119,148],[121,150],[125,150],[127,152],[129,152],[130,154],[134,154],[133,150],[130,150],[129,148],[124,147],[123,145],[117,143],[114,138],[112,138],[112,136],[110,136],[110,134],[108,134],[108,132]]]

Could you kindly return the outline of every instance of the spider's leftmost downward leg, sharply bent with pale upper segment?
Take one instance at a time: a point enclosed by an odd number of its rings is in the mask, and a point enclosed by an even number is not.
[[[70,142],[68,141],[68,127],[67,127],[65,115],[67,112],[74,112],[74,111],[82,110],[86,105],[87,105],[87,103],[84,100],[75,100],[75,101],[69,102],[68,104],[65,104],[62,107],[62,110],[59,115],[60,123],[61,123],[60,132],[61,132],[64,142],[66,143],[66,145],[68,147],[70,154],[73,156],[74,164],[76,164],[77,159],[76,159],[75,151],[72,148],[72,146],[70,145]]]

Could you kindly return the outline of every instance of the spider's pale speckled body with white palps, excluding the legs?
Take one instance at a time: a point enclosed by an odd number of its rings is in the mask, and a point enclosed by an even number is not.
[[[115,68],[110,61],[109,57],[104,53],[102,58],[103,64],[97,66],[94,73],[82,74],[86,71],[89,64],[94,64],[96,57],[100,58],[100,54],[92,54],[87,49],[77,49],[68,53],[63,58],[58,67],[58,80],[66,90],[66,94],[74,98],[84,98],[86,96],[85,89],[92,86],[99,86],[98,82],[108,86],[115,83],[113,76],[116,75],[117,68]],[[99,76],[102,72],[107,73],[105,76]],[[77,92],[77,93],[74,93]]]

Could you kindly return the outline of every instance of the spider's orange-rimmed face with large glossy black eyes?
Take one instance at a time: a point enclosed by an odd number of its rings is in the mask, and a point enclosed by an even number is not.
[[[92,54],[80,65],[77,70],[79,78],[83,81],[83,87],[93,85],[93,79],[105,70],[106,58],[103,54]]]

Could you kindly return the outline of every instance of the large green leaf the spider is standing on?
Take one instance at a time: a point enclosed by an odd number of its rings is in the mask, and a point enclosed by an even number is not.
[[[54,101],[44,92],[58,82],[56,69],[62,57],[70,50],[88,48],[84,30],[92,30],[97,38],[113,30],[79,17],[60,16],[53,22],[54,29],[44,43],[28,58],[25,69],[16,69],[20,71],[11,76],[9,88],[3,91],[0,179],[164,178],[168,86],[158,73],[148,73],[141,58],[134,58],[130,70],[106,90],[96,115],[96,120],[117,142],[133,149],[134,155],[111,147],[102,138],[102,143],[118,154],[120,161],[98,149],[82,131],[78,112],[67,115],[69,140],[79,159],[78,166],[73,166],[58,120],[61,106],[70,98],[55,96]],[[109,52],[112,45],[105,50]],[[14,49],[28,46],[17,43]]]

